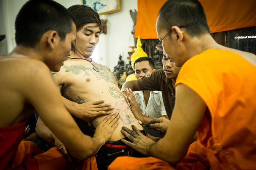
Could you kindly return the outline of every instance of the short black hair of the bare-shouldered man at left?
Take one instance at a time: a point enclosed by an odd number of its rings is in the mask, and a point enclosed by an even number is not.
[[[53,0],[29,0],[15,20],[15,41],[17,45],[35,47],[44,33],[56,31],[61,40],[73,31],[73,15]]]

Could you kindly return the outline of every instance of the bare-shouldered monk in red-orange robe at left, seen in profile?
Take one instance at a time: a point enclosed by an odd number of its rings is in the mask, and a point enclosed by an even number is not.
[[[51,74],[71,53],[76,39],[73,15],[53,0],[29,0],[17,15],[15,30],[17,46],[0,55],[0,170],[66,169],[67,161],[58,152],[64,147],[83,160],[80,168],[97,169],[93,155],[112,136],[119,115],[106,116],[93,138],[84,135],[65,108]],[[26,120],[35,110],[63,142],[58,150],[43,153],[34,143],[21,142]]]

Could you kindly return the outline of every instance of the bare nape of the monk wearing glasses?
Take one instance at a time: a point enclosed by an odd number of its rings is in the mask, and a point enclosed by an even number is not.
[[[187,45],[188,58],[194,57],[206,51],[210,48],[220,49],[222,45],[219,45],[210,34],[201,35],[201,37],[194,37],[192,41]]]

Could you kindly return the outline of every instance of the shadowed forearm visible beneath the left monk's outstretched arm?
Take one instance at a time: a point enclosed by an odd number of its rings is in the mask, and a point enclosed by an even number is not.
[[[44,124],[42,119],[39,117],[36,123],[35,132],[47,142],[52,142],[50,139],[50,132],[49,128]]]

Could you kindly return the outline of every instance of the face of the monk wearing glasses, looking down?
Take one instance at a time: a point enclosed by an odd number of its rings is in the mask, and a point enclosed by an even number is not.
[[[157,17],[156,29],[157,29],[157,37],[159,38],[159,40],[162,40],[163,37],[165,37],[166,34],[170,31],[162,28],[159,17]],[[162,44],[163,44],[164,51],[166,51],[166,54],[169,57],[171,57],[172,61],[175,62],[175,64],[178,67],[181,67],[185,62],[183,58],[184,48],[179,43],[177,43],[177,35],[174,33],[174,31],[171,31],[163,39]]]

